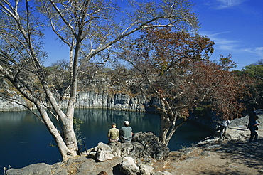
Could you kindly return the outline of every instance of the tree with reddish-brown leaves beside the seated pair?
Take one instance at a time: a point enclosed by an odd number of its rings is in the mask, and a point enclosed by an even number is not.
[[[149,28],[134,41],[127,58],[138,73],[138,84],[148,95],[159,97],[154,107],[161,114],[163,144],[181,126],[189,110],[210,103],[224,118],[236,117],[245,84],[226,67],[210,62],[213,41],[171,28]],[[225,64],[224,64],[225,65]]]

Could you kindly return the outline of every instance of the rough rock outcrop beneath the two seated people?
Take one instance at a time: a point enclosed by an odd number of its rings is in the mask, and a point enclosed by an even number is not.
[[[134,134],[132,142],[112,142],[107,144],[99,143],[97,147],[90,149],[89,157],[104,161],[114,156],[134,157],[144,161],[151,159],[166,159],[170,149],[161,143],[159,137],[152,132],[138,132]]]

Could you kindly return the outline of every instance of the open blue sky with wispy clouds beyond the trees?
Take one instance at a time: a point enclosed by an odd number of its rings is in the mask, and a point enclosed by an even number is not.
[[[236,70],[263,59],[263,0],[190,0],[200,21],[200,34],[215,42],[211,60],[232,55]],[[55,36],[46,36],[48,41]],[[56,46],[56,47],[54,47]],[[58,47],[57,47],[58,46]],[[55,48],[55,49],[54,49]],[[68,59],[68,49],[58,41],[45,46],[45,65]]]

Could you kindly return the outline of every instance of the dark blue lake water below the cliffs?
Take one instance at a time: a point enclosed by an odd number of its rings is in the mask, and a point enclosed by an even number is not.
[[[75,110],[75,117],[84,123],[80,125],[85,137],[87,149],[95,147],[98,142],[107,143],[107,132],[110,124],[115,122],[122,127],[124,120],[129,120],[133,132],[151,131],[159,134],[159,115],[143,112],[124,112],[117,110]],[[191,123],[183,124],[173,135],[168,147],[178,150],[190,147],[210,135],[208,131]],[[0,112],[0,168],[21,168],[29,164],[45,162],[53,164],[61,161],[53,137],[31,112]],[[82,150],[84,151],[84,149]],[[0,170],[4,174],[4,170]]]

